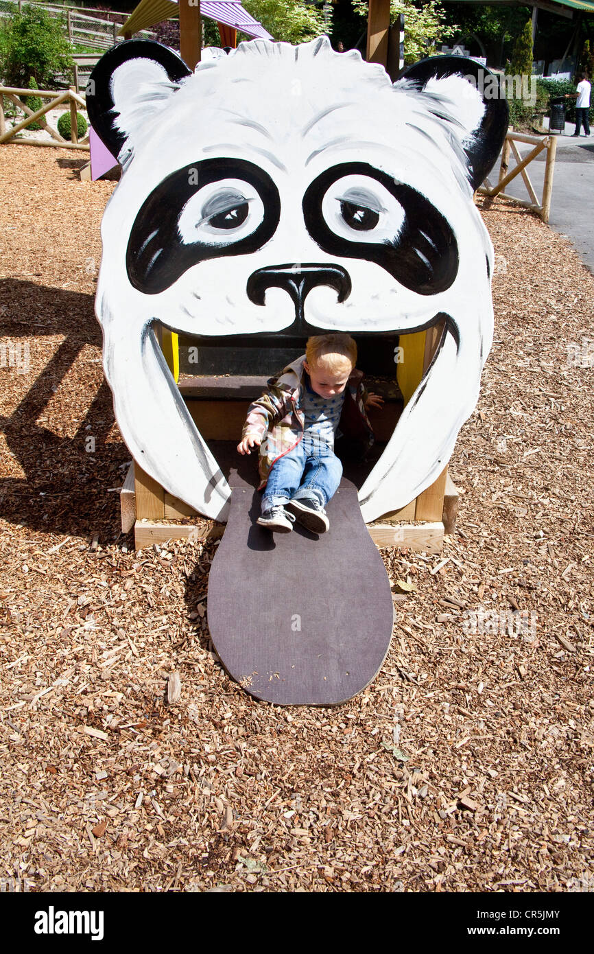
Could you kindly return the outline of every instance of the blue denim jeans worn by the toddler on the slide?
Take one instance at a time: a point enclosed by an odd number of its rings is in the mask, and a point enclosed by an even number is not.
[[[289,500],[314,500],[324,508],[338,490],[342,465],[327,447],[306,447],[301,440],[273,465],[264,496],[262,513]]]

